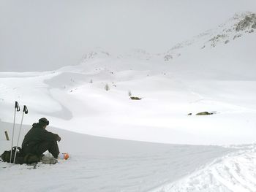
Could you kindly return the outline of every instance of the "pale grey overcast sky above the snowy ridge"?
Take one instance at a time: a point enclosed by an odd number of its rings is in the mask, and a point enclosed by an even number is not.
[[[0,0],[0,72],[79,64],[94,47],[165,52],[255,0]]]

